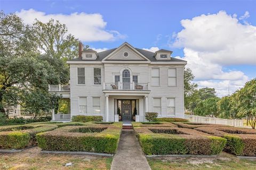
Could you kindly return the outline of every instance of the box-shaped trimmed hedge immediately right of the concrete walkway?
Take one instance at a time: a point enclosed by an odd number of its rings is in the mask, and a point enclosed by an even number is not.
[[[226,139],[185,128],[135,127],[142,150],[146,155],[189,154],[216,155]]]

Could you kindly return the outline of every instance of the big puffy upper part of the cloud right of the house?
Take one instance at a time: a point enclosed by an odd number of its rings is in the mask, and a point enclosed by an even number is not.
[[[212,63],[256,64],[256,27],[242,24],[224,11],[182,20],[172,46],[186,47]]]

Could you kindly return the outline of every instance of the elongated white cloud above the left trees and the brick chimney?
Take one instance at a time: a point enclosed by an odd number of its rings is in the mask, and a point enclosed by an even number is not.
[[[111,41],[125,38],[124,35],[121,35],[116,30],[106,30],[107,22],[103,20],[102,15],[99,13],[46,14],[45,12],[30,9],[21,10],[16,14],[28,24],[33,23],[35,19],[42,22],[47,22],[51,18],[59,20],[67,25],[69,33],[81,41]]]

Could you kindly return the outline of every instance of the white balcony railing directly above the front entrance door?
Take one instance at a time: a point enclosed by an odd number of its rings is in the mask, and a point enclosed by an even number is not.
[[[103,83],[103,90],[148,90],[148,83]]]

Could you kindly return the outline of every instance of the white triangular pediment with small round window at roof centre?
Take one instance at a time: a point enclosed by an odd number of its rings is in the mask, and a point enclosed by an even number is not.
[[[128,43],[122,44],[108,56],[106,56],[103,61],[149,61],[146,56],[141,54],[137,49],[132,47]]]

